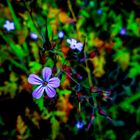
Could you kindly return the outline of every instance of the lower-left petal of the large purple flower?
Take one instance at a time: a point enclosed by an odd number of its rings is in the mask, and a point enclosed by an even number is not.
[[[42,85],[38,86],[32,93],[32,96],[36,99],[39,99],[44,92],[44,87]]]

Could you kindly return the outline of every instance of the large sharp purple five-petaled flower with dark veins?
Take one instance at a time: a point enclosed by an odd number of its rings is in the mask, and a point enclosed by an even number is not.
[[[60,80],[57,77],[50,78],[52,75],[52,69],[45,67],[42,70],[43,80],[40,79],[36,74],[30,74],[28,77],[28,82],[33,85],[38,85],[38,87],[33,91],[32,95],[34,98],[39,99],[44,90],[48,97],[53,98],[56,94],[54,88],[60,86]]]

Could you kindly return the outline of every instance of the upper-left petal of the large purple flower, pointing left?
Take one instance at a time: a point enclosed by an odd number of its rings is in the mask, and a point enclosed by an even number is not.
[[[28,82],[30,84],[40,85],[42,84],[43,80],[40,79],[36,74],[30,74],[28,77]]]

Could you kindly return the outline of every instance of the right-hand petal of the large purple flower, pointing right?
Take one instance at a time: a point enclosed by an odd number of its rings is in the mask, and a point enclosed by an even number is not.
[[[53,88],[57,88],[60,86],[60,80],[57,77],[53,77],[49,80],[48,86],[51,86]]]

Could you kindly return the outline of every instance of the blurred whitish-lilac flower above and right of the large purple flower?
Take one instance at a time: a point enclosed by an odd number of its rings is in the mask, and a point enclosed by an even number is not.
[[[78,50],[79,52],[81,52],[82,51],[82,49],[83,49],[83,44],[81,43],[81,42],[77,42],[77,40],[76,39],[67,39],[67,42],[70,44],[70,48],[72,49],[72,50]]]

